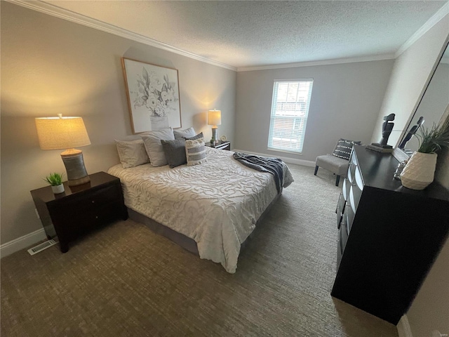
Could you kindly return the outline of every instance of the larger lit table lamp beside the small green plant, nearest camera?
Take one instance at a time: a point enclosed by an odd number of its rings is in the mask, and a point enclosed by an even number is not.
[[[65,150],[61,153],[67,171],[69,186],[91,181],[84,166],[83,152],[74,147],[91,145],[91,140],[81,117],[36,118],[37,136],[42,150]]]

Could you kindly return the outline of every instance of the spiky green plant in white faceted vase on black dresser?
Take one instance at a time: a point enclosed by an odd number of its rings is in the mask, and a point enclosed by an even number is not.
[[[401,183],[412,190],[424,190],[434,181],[438,150],[449,147],[449,115],[445,121],[416,134],[420,147],[413,152],[401,173]]]

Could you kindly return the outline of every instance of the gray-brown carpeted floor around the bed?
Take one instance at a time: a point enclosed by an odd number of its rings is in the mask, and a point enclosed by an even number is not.
[[[340,189],[289,166],[234,275],[132,220],[1,259],[1,336],[397,336],[330,296]]]

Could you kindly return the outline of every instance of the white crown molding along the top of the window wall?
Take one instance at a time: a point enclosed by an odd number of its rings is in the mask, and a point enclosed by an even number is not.
[[[368,62],[368,61],[391,60],[391,59],[394,59],[394,54],[361,56],[358,58],[335,58],[331,60],[283,63],[279,65],[261,65],[256,67],[238,67],[237,72],[250,72],[253,70],[270,70],[270,69],[295,68],[295,67],[312,67],[314,65],[340,65],[342,63]]]

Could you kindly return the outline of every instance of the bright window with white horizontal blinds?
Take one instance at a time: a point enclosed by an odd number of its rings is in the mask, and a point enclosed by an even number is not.
[[[313,79],[275,81],[268,148],[302,152]]]

